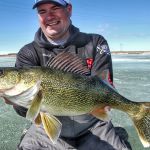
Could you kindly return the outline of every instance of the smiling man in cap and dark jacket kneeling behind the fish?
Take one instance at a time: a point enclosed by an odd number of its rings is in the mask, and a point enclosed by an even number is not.
[[[52,58],[62,51],[69,51],[82,58],[91,76],[109,70],[107,80],[112,84],[112,61],[106,40],[96,34],[86,34],[72,25],[72,5],[65,0],[36,0],[40,28],[32,43],[18,53],[16,67],[47,66]],[[26,109],[14,105],[21,116]],[[18,150],[128,150],[125,141],[115,132],[110,121],[101,121],[86,114],[72,117],[57,117],[62,123],[60,138],[52,144],[43,126],[34,124],[23,135]]]

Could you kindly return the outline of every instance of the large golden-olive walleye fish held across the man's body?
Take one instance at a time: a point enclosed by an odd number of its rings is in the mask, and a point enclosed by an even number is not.
[[[28,108],[26,118],[42,123],[53,143],[62,128],[55,116],[106,119],[105,107],[110,106],[129,115],[143,146],[150,147],[150,102],[128,100],[99,77],[86,76],[82,60],[69,52],[58,54],[48,66],[0,68],[0,97]]]

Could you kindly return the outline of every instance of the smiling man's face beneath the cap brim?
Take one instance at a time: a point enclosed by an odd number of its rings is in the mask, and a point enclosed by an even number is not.
[[[72,6],[57,6],[55,4],[41,4],[37,7],[39,22],[47,38],[59,40],[68,34]]]

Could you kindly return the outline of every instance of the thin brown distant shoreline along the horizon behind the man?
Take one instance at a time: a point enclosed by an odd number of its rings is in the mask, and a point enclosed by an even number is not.
[[[111,54],[150,54],[150,51],[111,51]],[[17,53],[0,54],[0,57],[16,57]]]

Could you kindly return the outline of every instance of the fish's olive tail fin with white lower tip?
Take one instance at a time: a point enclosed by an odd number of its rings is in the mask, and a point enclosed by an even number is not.
[[[144,147],[150,147],[150,103],[141,103],[140,110],[132,116],[139,138]]]

